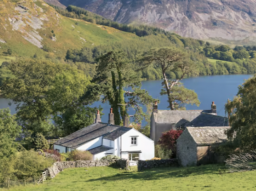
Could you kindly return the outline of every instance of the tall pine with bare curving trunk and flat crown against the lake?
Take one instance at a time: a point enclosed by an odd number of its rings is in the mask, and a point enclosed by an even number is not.
[[[155,48],[146,52],[140,62],[142,63],[142,68],[152,64],[160,65],[163,77],[162,85],[165,87],[161,94],[168,95],[169,108],[171,110],[180,108],[180,104],[199,105],[197,94],[192,90],[184,88],[179,83],[187,74],[193,72],[195,68],[187,53],[173,47]],[[176,73],[176,79],[169,81],[167,72]],[[186,96],[183,95],[184,93]]]

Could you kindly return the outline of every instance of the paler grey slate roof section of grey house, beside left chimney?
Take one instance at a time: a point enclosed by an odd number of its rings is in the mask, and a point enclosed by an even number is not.
[[[153,112],[156,123],[177,123],[181,119],[192,121],[198,117],[203,110],[158,110]]]

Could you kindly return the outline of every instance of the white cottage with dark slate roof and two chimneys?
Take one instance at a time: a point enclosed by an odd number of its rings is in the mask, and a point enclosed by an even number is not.
[[[103,156],[115,155],[129,160],[149,160],[155,156],[154,141],[134,128],[101,123],[99,114],[96,123],[89,125],[54,143],[54,149],[60,153],[74,149],[90,151],[94,160]]]

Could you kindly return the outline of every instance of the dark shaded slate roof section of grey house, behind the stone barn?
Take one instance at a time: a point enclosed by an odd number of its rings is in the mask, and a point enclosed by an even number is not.
[[[228,126],[228,118],[222,116],[216,116],[212,114],[202,113],[195,119],[185,124],[187,127],[205,127],[205,126]]]

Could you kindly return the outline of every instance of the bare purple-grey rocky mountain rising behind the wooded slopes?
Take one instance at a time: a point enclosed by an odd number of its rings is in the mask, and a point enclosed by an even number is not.
[[[120,23],[150,24],[184,37],[256,41],[256,0],[58,0]]]

